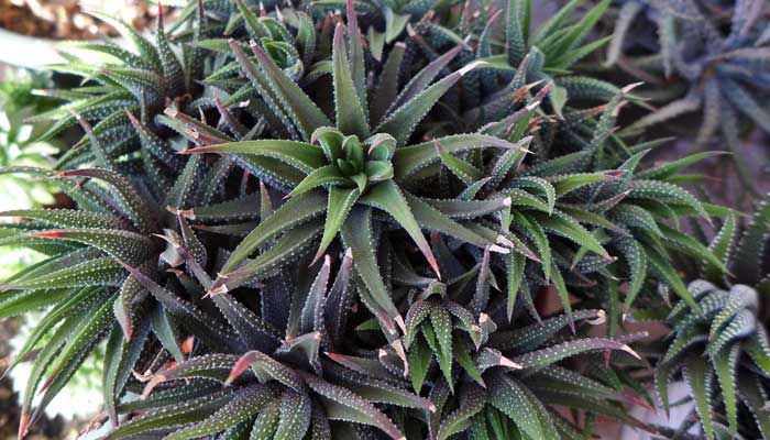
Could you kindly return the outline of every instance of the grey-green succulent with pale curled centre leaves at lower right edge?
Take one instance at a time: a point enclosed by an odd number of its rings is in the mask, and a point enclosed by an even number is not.
[[[759,205],[743,231],[735,216],[727,217],[710,249],[730,274],[704,264],[703,278],[688,287],[701,311],[679,305],[668,317],[673,333],[657,365],[658,391],[668,410],[669,382],[681,372],[708,439],[770,433],[770,343],[763,326],[770,294],[769,206],[767,199]]]

